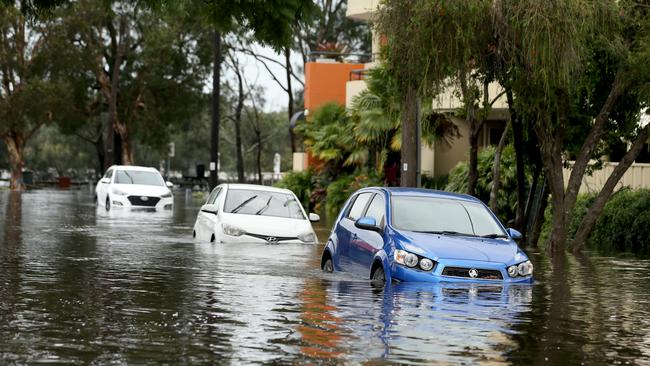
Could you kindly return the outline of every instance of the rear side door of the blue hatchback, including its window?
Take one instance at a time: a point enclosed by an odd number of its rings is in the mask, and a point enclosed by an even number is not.
[[[368,202],[372,198],[373,193],[364,192],[358,194],[350,200],[349,207],[344,211],[344,216],[339,221],[336,227],[336,236],[338,238],[338,247],[336,249],[338,255],[339,269],[345,272],[354,270],[352,265],[352,258],[350,257],[350,248],[352,242],[357,240],[358,229],[354,226],[354,222],[361,218],[368,206]]]

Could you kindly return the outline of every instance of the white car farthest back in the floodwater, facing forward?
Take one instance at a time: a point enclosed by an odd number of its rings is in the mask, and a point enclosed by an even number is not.
[[[95,188],[98,205],[111,207],[171,209],[174,198],[160,172],[154,168],[113,165]]]

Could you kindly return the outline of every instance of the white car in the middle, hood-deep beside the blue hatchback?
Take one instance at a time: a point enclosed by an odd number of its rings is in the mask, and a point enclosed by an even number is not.
[[[317,221],[288,189],[222,184],[201,207],[193,236],[216,243],[316,243],[311,222]]]

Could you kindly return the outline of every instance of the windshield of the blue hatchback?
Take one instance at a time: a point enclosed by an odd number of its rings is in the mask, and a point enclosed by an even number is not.
[[[391,221],[394,228],[408,231],[505,236],[485,206],[454,199],[393,196]]]

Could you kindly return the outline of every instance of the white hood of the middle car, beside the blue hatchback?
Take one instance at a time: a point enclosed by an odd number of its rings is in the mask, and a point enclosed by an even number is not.
[[[247,233],[268,236],[297,237],[314,231],[308,220],[274,216],[223,213],[223,223],[237,226]]]

